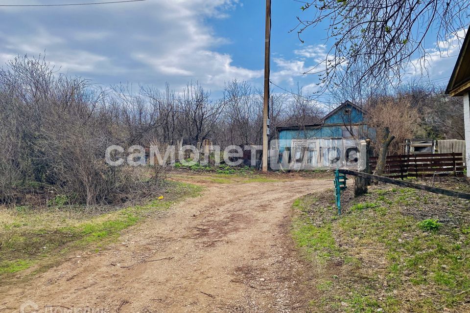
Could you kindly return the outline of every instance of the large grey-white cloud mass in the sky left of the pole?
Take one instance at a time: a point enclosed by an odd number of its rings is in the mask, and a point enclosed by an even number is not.
[[[55,0],[54,0],[55,1]],[[217,52],[229,43],[207,19],[223,19],[238,0],[152,0],[90,7],[2,10],[11,25],[0,33],[0,58],[46,52],[64,72],[97,82],[139,82],[178,89],[188,81],[220,89],[262,70],[235,66]]]

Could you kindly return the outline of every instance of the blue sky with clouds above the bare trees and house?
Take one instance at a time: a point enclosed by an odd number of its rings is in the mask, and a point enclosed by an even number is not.
[[[98,0],[0,0],[0,4],[58,4]],[[289,32],[301,3],[272,1],[271,80],[308,94],[317,77],[303,73],[325,57],[325,31],[310,29],[305,44]],[[307,11],[306,11],[307,12]],[[221,94],[236,78],[263,84],[264,0],[146,0],[86,6],[0,7],[0,64],[17,55],[46,60],[62,73],[104,87],[119,83],[181,90],[199,82]],[[428,42],[429,79],[447,83],[459,45],[441,58]],[[275,91],[281,91],[277,87]]]

